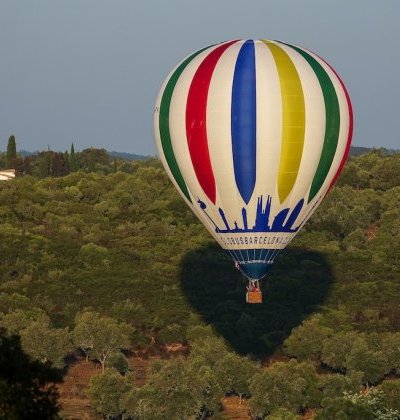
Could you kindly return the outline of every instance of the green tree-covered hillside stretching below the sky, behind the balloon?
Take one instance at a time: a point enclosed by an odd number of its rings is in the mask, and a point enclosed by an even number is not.
[[[11,159],[0,418],[68,418],[58,390],[80,360],[99,418],[223,419],[236,396],[253,419],[400,419],[400,153],[348,160],[262,305],[157,159],[72,147],[0,153],[0,169]]]

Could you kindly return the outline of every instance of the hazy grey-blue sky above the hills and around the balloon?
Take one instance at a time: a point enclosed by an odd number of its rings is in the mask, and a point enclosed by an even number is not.
[[[358,146],[400,148],[400,0],[0,0],[0,150],[155,154],[153,106],[178,61],[233,38],[332,64]]]

